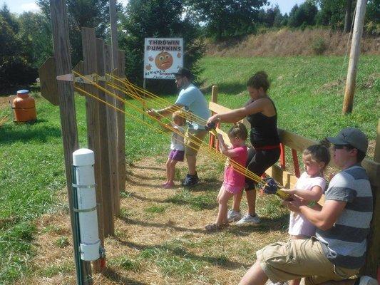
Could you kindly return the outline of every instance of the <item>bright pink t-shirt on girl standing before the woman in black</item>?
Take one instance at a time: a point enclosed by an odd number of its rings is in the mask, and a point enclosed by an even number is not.
[[[247,162],[248,148],[246,145],[241,147],[232,147],[232,151],[235,153],[235,157],[229,157],[225,166],[225,181],[223,184],[230,185],[232,187],[244,187],[245,185],[245,175],[237,172],[233,165],[230,165],[230,160],[242,165],[245,168],[245,162]]]

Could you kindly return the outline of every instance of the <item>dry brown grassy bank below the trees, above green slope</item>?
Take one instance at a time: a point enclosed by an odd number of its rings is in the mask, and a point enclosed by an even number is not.
[[[348,33],[323,28],[291,31],[282,28],[244,39],[219,43],[207,41],[207,56],[342,56],[346,53]],[[350,44],[351,46],[351,40]],[[380,37],[364,36],[361,53],[380,55]]]

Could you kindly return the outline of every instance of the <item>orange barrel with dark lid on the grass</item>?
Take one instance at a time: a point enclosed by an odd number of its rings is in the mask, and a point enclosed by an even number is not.
[[[17,96],[13,101],[14,121],[29,122],[36,120],[36,103],[34,98],[29,96],[29,90],[17,91]]]

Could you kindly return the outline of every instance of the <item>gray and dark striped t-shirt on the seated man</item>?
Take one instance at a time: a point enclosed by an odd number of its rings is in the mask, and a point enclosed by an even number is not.
[[[339,172],[324,195],[326,201],[347,202],[331,229],[317,229],[324,253],[337,266],[359,269],[364,265],[366,238],[374,207],[366,170],[361,165],[354,165]]]

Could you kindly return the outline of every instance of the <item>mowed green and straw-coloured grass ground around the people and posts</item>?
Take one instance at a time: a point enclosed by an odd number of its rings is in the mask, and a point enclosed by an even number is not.
[[[205,88],[207,100],[210,100],[210,86],[216,84],[220,90],[220,104],[229,108],[243,105],[247,100],[247,79],[256,71],[264,70],[272,82],[269,94],[277,105],[280,128],[320,140],[327,135],[336,134],[341,128],[355,126],[369,135],[373,155],[376,126],[380,118],[379,56],[361,56],[354,111],[349,115],[342,115],[347,65],[344,64],[343,57],[207,57],[200,64],[203,68],[200,81]],[[67,222],[67,219],[57,218],[67,217],[68,212],[59,110],[38,93],[33,95],[38,113],[36,123],[15,125],[9,116],[9,121],[0,127],[0,258],[3,261],[0,284],[13,284],[18,280],[19,284],[23,284],[23,280],[29,280],[29,284],[43,284],[38,280],[53,277],[59,280],[59,276],[73,276],[73,279],[68,278],[67,283],[64,283],[71,284],[75,277],[67,224],[63,226],[59,223],[41,223],[48,219],[46,217],[53,221]],[[173,102],[175,97],[167,95],[165,99]],[[6,98],[1,100],[4,102]],[[86,147],[84,101],[83,97],[76,96],[81,147]],[[210,219],[216,214],[214,199],[220,187],[222,162],[215,166],[210,160],[203,160],[200,173],[205,180],[205,187],[197,187],[196,191],[178,188],[172,192],[159,192],[160,199],[155,203],[149,202],[145,197],[139,200],[137,209],[133,209],[131,204],[136,202],[135,197],[144,196],[139,193],[143,190],[133,188],[139,184],[136,177],[143,180],[145,176],[153,175],[157,181],[163,178],[164,172],[160,171],[160,167],[164,167],[169,138],[138,123],[134,119],[141,118],[138,113],[130,110],[128,112],[132,116],[126,117],[127,160],[130,165],[141,161],[153,162],[153,168],[157,168],[157,171],[137,174],[132,171],[135,175],[132,175],[133,179],[130,181],[135,184],[129,185],[132,192],[122,195],[125,204],[123,217],[118,219],[120,228],[134,224],[133,221],[143,217],[157,223],[165,219],[163,228],[173,230],[171,237],[157,239],[157,247],[133,247],[138,252],[123,252],[120,244],[116,247],[115,241],[111,241],[109,247],[120,249],[124,255],[110,254],[109,264],[111,268],[117,269],[119,275],[128,276],[128,284],[133,284],[133,280],[135,284],[176,284],[179,281],[185,284],[225,284],[227,276],[239,278],[244,274],[247,266],[255,260],[255,249],[286,237],[287,212],[279,206],[275,197],[260,197],[258,212],[265,219],[262,227],[234,228],[227,233],[210,236],[199,232],[194,235],[185,231],[186,227],[202,227],[202,223],[211,222]],[[0,118],[9,113],[9,106],[1,104]],[[129,167],[128,171],[131,171]],[[178,178],[184,174],[185,168],[182,166]],[[146,186],[149,189],[147,195],[150,197],[155,195],[155,187],[152,185]],[[157,191],[160,189],[157,188]],[[173,218],[175,214],[182,215],[185,220],[181,227],[174,227],[172,224],[173,221],[180,223],[180,219]],[[186,214],[192,217],[191,221]],[[149,223],[146,227],[150,229],[150,233],[156,229]],[[272,229],[274,234],[267,234]],[[178,237],[178,232],[185,233]],[[35,261],[41,257],[41,237],[49,239],[49,234],[52,247],[58,252],[64,248],[69,254],[62,262],[46,265],[45,270],[38,269]],[[149,231],[142,234],[147,236],[142,235],[139,242],[151,238]],[[130,239],[135,238],[123,234],[122,231],[118,232],[117,237],[125,241],[125,247],[128,247]],[[242,242],[240,246],[227,246],[239,242]],[[207,250],[202,252],[202,249]],[[145,276],[142,272],[150,272],[150,275]],[[193,277],[197,272],[201,272],[200,276]],[[218,279],[217,274],[213,276],[212,272],[224,273]],[[145,283],[144,278],[150,281]],[[120,280],[122,279],[113,277],[113,281],[122,283]],[[60,284],[57,282],[56,284]],[[104,281],[100,282],[99,284],[106,284]]]

